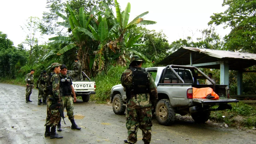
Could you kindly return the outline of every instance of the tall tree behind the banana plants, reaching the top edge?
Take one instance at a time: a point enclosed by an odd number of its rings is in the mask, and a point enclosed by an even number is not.
[[[67,17],[69,17],[70,12],[67,9],[66,4],[69,4],[74,10],[75,15],[78,16],[79,9],[81,7],[84,8],[86,14],[90,14],[94,5],[97,5],[97,7],[99,7],[101,10],[105,9],[102,5],[99,5],[101,1],[105,2],[108,6],[114,5],[112,0],[47,0],[46,8],[48,9],[48,12],[43,13],[43,23],[40,25],[42,33],[61,34],[63,28],[59,27],[59,25],[56,23],[59,18],[56,12],[64,13],[67,15]]]

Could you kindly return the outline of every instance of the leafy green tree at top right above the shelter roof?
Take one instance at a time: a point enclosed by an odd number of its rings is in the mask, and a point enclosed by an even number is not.
[[[225,49],[256,53],[256,1],[224,0],[222,6],[227,6],[227,10],[214,13],[208,25],[225,24],[224,29],[231,28],[224,37]]]

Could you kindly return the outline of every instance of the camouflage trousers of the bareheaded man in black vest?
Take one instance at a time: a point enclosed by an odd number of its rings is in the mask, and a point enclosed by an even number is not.
[[[66,108],[69,120],[74,119],[74,104],[71,95],[62,97],[62,108],[63,111]]]

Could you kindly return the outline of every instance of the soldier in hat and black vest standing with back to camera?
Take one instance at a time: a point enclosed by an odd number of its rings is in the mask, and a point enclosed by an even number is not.
[[[128,139],[125,143],[136,143],[138,128],[142,130],[145,144],[150,143],[152,108],[157,103],[157,90],[153,77],[141,69],[142,59],[135,55],[130,67],[121,76],[121,84],[126,91],[126,128]]]

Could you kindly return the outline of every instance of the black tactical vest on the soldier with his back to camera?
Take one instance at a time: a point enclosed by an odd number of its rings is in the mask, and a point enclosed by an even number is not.
[[[148,73],[143,71],[141,68],[132,67],[132,94],[146,94],[146,100],[148,100],[147,93],[149,92],[149,80]]]

